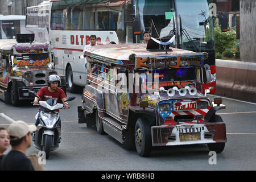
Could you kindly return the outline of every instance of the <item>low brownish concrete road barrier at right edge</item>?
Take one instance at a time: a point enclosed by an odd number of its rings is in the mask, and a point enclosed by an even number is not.
[[[256,102],[256,63],[216,60],[216,94]]]

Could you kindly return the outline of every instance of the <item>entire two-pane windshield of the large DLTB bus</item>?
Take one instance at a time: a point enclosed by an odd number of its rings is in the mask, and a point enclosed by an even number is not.
[[[150,31],[154,38],[179,35],[177,47],[181,49],[195,52],[214,49],[213,20],[207,0],[135,0],[134,8],[141,32]],[[143,36],[139,39],[142,43]]]

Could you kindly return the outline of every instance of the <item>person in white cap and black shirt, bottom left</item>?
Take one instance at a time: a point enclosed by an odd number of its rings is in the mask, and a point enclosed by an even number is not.
[[[35,130],[35,125],[28,125],[23,121],[11,123],[9,136],[12,148],[2,160],[2,171],[34,171],[30,159],[26,156],[26,151],[31,146],[32,133]]]

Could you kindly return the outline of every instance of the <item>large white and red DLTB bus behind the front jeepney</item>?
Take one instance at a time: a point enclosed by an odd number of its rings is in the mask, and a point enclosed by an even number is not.
[[[209,0],[51,0],[49,15],[49,41],[59,60],[56,71],[65,76],[71,92],[86,84],[82,51],[90,35],[97,36],[97,45],[142,43],[144,31],[154,38],[176,35],[177,48],[208,52],[205,63],[215,71]]]

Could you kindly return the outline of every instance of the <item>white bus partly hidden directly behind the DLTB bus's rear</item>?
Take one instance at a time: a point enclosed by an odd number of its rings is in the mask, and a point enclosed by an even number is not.
[[[49,3],[43,1],[38,6],[27,7],[26,31],[35,34],[36,42],[49,42]]]

